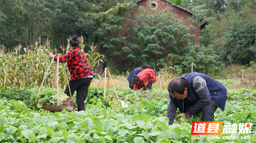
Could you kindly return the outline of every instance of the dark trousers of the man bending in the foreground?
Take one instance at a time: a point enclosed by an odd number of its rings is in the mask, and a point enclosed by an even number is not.
[[[202,121],[214,122],[214,112],[217,110],[214,103],[210,103],[202,108]]]

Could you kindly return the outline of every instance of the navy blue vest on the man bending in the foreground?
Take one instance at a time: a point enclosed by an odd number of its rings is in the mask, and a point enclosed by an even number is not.
[[[227,88],[217,80],[212,79],[210,76],[202,74],[202,73],[189,73],[184,76],[181,76],[181,79],[184,79],[187,81],[187,88],[188,88],[188,94],[187,94],[187,100],[177,100],[176,98],[173,98],[170,94],[169,97],[174,103],[176,107],[179,108],[180,111],[186,112],[188,111],[189,115],[193,115],[192,111],[189,111],[188,108],[190,106],[193,106],[196,102],[198,102],[198,95],[196,94],[197,85],[194,85],[193,82],[195,82],[196,77],[201,77],[205,80],[207,88],[210,92],[210,102],[216,104],[222,111],[225,108],[226,100],[227,100]],[[208,91],[207,91],[208,92]],[[205,92],[204,92],[205,93]]]

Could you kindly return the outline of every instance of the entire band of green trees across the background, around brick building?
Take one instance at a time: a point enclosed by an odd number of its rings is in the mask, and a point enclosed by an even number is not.
[[[201,31],[200,47],[191,40],[193,28],[200,25],[191,21],[193,25],[185,27],[181,20],[173,21],[168,9],[149,12],[140,8],[141,15],[134,15],[135,1],[0,1],[0,47],[30,45],[41,36],[49,37],[50,48],[60,50],[70,35],[83,35],[84,50],[89,51],[94,42],[98,47],[95,52],[105,56],[104,66],[115,74],[146,62],[157,71],[168,65],[170,71],[185,73],[192,61],[194,71],[207,74],[222,69],[222,61],[248,65],[255,60],[253,0],[170,0],[194,11],[195,17],[209,19],[209,25]],[[124,31],[126,34],[121,34]],[[226,59],[228,55],[231,60]]]

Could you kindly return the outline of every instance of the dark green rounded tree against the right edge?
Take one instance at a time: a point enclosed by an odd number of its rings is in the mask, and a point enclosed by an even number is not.
[[[249,65],[256,59],[256,21],[233,21],[230,31],[225,35],[223,47],[226,49],[226,55],[230,54],[233,64]]]

